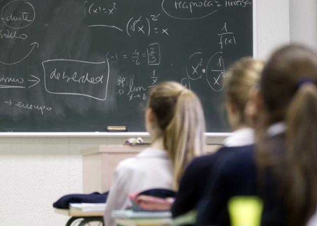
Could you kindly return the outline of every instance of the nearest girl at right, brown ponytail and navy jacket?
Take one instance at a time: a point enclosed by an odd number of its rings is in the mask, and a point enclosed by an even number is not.
[[[230,225],[234,196],[264,201],[263,226],[304,226],[317,204],[317,54],[286,46],[269,59],[255,95],[255,147],[218,164],[198,225]]]

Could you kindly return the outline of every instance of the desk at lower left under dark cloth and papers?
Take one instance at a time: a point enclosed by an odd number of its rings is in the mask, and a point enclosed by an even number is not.
[[[90,222],[99,222],[98,225],[104,225],[103,217],[104,212],[81,212],[81,211],[70,211],[69,209],[54,209],[55,213],[70,216],[71,218],[67,221],[66,226],[78,225],[84,226]],[[75,222],[76,221],[76,222]]]

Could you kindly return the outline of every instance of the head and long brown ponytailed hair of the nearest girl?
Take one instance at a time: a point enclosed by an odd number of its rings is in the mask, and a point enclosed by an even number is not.
[[[286,194],[288,225],[305,225],[317,205],[317,54],[286,46],[269,59],[260,80],[261,130],[257,165],[274,169]],[[269,125],[286,124],[286,146],[270,139]],[[283,136],[280,136],[283,139]],[[284,149],[280,152],[276,149]]]

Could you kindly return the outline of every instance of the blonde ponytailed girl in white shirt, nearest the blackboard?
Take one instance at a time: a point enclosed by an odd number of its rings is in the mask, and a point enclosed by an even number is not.
[[[104,223],[114,226],[112,210],[131,207],[129,194],[151,188],[178,189],[187,164],[205,152],[205,120],[197,95],[177,82],[164,82],[149,94],[146,130],[152,140],[114,173]]]

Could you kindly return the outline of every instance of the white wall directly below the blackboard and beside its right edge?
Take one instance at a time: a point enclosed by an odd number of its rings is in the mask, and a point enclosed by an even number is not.
[[[295,0],[296,1],[296,0]],[[257,1],[260,58],[290,41],[289,0]],[[82,191],[80,150],[124,138],[0,138],[0,225],[65,225],[52,203]],[[219,142],[219,140],[213,140]]]

